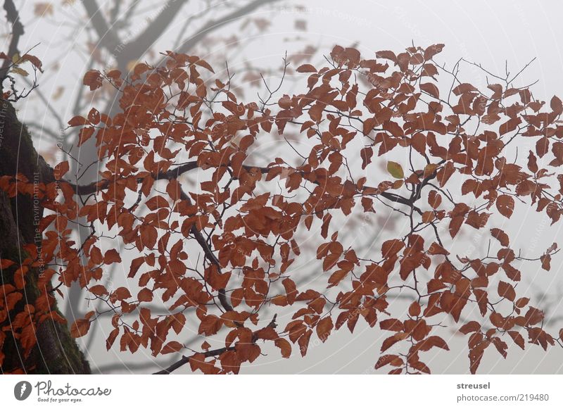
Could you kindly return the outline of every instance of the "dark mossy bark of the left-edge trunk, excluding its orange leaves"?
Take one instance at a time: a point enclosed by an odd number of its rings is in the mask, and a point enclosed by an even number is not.
[[[0,99],[0,176],[22,173],[34,182],[53,180],[52,170],[42,156],[35,151],[30,134],[16,117],[11,103]],[[1,271],[2,284],[14,284],[14,272],[26,258],[25,244],[37,244],[37,220],[42,217],[43,208],[39,201],[29,195],[9,198],[0,189],[0,258],[13,260],[15,265]],[[34,222],[35,221],[35,222]],[[23,311],[26,304],[34,305],[40,294],[37,287],[39,269],[27,272],[23,299],[15,304],[6,316],[0,310],[0,330],[4,332],[4,344],[0,353],[4,354],[1,372],[35,374],[87,374],[90,368],[75,339],[70,336],[66,325],[50,318],[39,324],[36,332],[37,344],[24,356],[23,346],[11,332],[11,322],[15,315]],[[49,284],[50,285],[50,284]],[[0,294],[4,298],[4,294]],[[0,304],[4,308],[4,304]],[[56,304],[51,309],[56,309]],[[4,314],[2,314],[4,312]],[[0,342],[1,344],[1,342]]]

